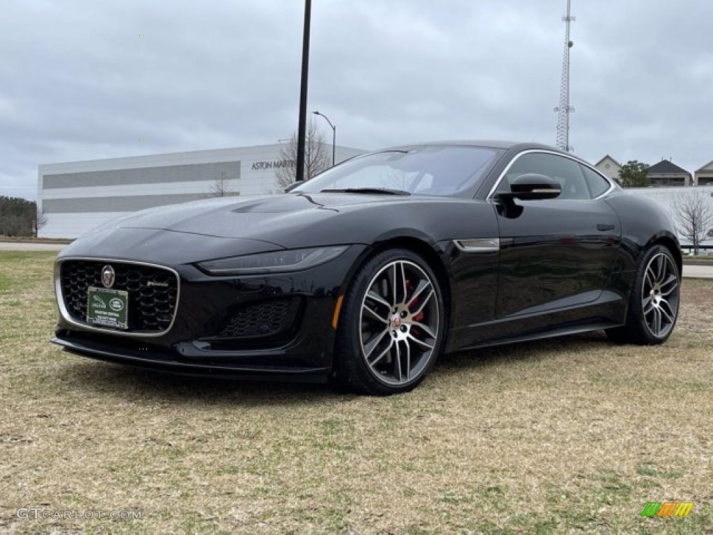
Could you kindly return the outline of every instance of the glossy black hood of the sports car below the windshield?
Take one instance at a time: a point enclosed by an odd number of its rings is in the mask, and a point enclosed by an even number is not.
[[[441,227],[436,221],[448,213],[443,203],[456,202],[360,193],[206,199],[111,220],[75,240],[60,256],[180,264],[281,248],[368,245],[391,233],[430,235],[429,227]],[[421,218],[414,221],[414,213]],[[419,223],[423,232],[413,230]]]

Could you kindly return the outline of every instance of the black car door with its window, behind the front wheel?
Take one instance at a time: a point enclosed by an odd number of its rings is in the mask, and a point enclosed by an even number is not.
[[[498,206],[497,195],[491,198],[501,246],[496,317],[539,315],[546,323],[546,312],[600,297],[615,265],[621,228],[614,210],[600,199],[611,184],[574,158],[520,153],[495,193],[509,191],[511,180],[523,173],[552,178],[562,192],[549,200],[517,200],[522,210],[515,211]]]

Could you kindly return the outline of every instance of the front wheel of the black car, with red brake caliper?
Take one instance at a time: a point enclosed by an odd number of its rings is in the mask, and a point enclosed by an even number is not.
[[[337,377],[361,394],[416,387],[434,365],[445,332],[438,278],[406,249],[377,253],[354,276],[337,327]]]

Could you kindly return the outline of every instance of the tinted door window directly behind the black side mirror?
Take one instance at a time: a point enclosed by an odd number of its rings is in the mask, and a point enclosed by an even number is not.
[[[538,173],[557,180],[562,186],[558,199],[590,199],[590,189],[579,163],[550,153],[527,153],[520,156],[498,185],[498,191],[509,191],[510,184],[523,173]]]

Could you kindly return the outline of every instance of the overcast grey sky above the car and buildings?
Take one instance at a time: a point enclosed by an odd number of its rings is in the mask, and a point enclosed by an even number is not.
[[[575,153],[713,160],[713,1],[572,4]],[[313,0],[309,110],[357,148],[554,144],[565,6]],[[0,195],[36,199],[41,163],[288,138],[303,16],[302,0],[3,0]]]

